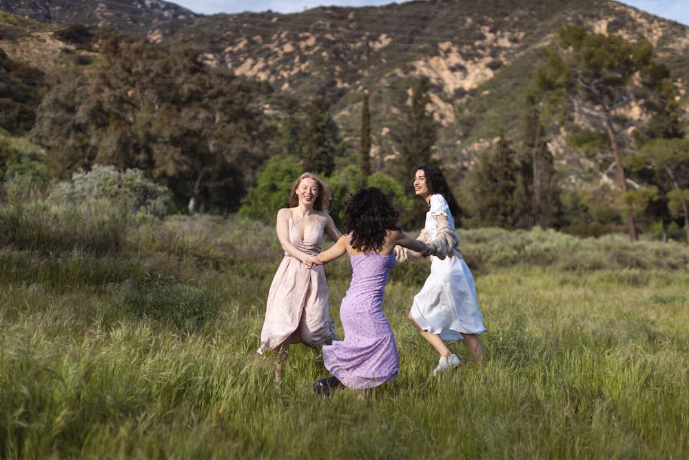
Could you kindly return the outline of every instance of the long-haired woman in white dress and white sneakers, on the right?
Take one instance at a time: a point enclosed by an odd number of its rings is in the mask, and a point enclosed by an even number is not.
[[[420,166],[414,177],[415,193],[426,200],[425,230],[432,240],[440,221],[448,221],[455,228],[454,217],[462,217],[450,187],[437,166]],[[460,359],[450,352],[446,340],[466,339],[475,361],[481,362],[484,348],[478,334],[484,332],[483,318],[478,309],[476,288],[469,267],[460,256],[431,258],[431,274],[421,291],[414,296],[409,321],[440,353],[433,375],[456,368]]]

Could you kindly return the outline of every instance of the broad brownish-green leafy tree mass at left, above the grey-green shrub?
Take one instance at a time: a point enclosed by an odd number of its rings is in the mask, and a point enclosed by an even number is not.
[[[30,133],[54,177],[94,163],[139,168],[179,204],[236,208],[268,156],[256,92],[269,88],[209,69],[185,43],[165,52],[111,35],[100,48],[60,76]]]

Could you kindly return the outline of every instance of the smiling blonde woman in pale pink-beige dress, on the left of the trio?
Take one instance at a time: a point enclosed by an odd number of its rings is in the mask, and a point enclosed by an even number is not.
[[[289,208],[278,211],[276,232],[285,257],[268,293],[258,353],[276,356],[275,379],[292,343],[322,346],[336,339],[322,266],[309,270],[304,262],[320,253],[323,235],[338,241],[342,234],[326,209],[330,190],[310,172],[300,175],[289,192]]]

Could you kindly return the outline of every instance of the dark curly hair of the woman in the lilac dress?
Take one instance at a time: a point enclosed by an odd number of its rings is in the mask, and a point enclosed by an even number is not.
[[[378,251],[385,242],[386,230],[400,230],[400,213],[391,199],[376,187],[360,188],[345,200],[347,210],[342,223],[351,233],[351,247],[361,252]]]

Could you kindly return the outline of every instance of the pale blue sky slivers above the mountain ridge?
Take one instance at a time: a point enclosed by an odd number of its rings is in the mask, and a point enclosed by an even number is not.
[[[201,14],[261,12],[272,10],[280,13],[294,13],[318,6],[381,6],[393,0],[167,0]],[[480,1],[480,0],[474,0]],[[404,3],[398,0],[398,3]],[[457,1],[461,4],[462,1]],[[625,0],[626,5],[672,19],[689,26],[689,7],[687,0]]]

